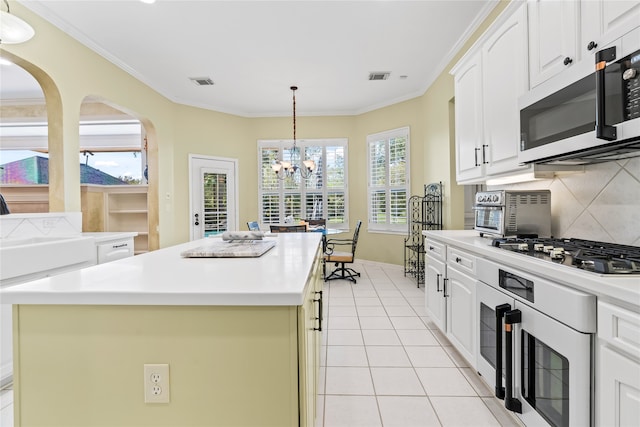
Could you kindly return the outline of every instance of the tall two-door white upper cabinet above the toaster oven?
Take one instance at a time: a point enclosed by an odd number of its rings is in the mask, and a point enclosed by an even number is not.
[[[498,20],[452,70],[458,184],[530,169],[518,164],[518,97],[527,89],[526,8],[505,10]]]

